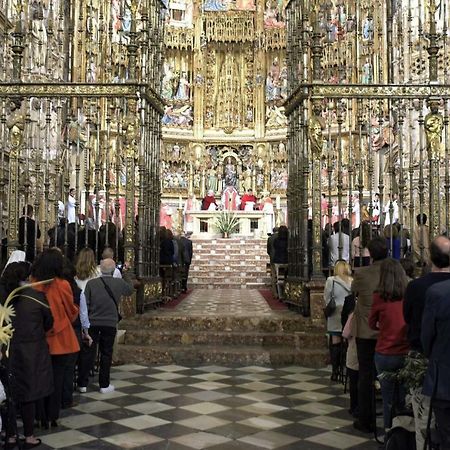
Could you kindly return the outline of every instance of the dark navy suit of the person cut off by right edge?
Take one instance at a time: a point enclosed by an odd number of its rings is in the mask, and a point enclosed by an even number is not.
[[[439,448],[450,450],[450,280],[436,283],[427,291],[421,341],[428,357],[423,393],[432,398],[441,435]]]

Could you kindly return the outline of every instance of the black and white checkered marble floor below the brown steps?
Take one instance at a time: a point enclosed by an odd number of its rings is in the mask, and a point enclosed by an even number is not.
[[[42,450],[375,450],[352,428],[327,370],[286,367],[115,367],[116,391],[75,395]]]

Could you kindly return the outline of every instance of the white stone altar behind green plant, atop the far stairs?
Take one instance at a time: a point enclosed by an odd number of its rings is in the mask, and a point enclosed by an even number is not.
[[[272,232],[273,214],[262,211],[231,211],[239,220],[238,236],[265,237]],[[195,237],[217,237],[220,232],[215,223],[221,211],[189,211],[192,218],[192,232]]]

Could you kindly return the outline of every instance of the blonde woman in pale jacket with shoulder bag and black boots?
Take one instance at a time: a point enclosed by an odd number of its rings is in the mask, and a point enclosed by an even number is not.
[[[331,380],[337,381],[341,375],[342,324],[341,312],[345,297],[351,294],[352,268],[342,259],[334,266],[334,275],[327,278],[324,302],[327,306],[334,300],[336,308],[327,316],[327,334],[329,336],[330,359],[332,366]]]

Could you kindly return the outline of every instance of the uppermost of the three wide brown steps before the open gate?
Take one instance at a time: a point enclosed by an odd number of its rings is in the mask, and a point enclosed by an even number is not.
[[[120,322],[124,330],[177,330],[177,331],[216,331],[252,333],[314,333],[320,332],[312,327],[309,320],[292,311],[283,311],[277,316],[272,312],[270,316],[236,316],[220,315],[212,317],[177,315],[154,315],[148,312]]]

